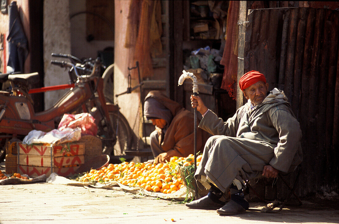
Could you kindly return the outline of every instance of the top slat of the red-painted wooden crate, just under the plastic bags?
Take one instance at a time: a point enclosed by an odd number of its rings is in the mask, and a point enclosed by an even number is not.
[[[51,155],[52,150],[52,155]],[[63,145],[26,145],[18,144],[20,155],[36,155],[36,156],[79,156],[84,155],[84,144],[67,144]]]

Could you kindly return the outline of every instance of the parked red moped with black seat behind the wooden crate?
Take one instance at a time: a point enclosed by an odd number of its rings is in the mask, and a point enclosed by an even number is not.
[[[96,119],[103,151],[111,157],[124,155],[124,150],[132,147],[132,129],[119,112],[119,106],[104,96],[100,59],[81,61],[72,55],[52,56],[71,59],[73,63],[51,61],[69,68],[71,84],[29,89],[38,82],[38,73],[0,74],[0,82],[8,80],[12,86],[11,90],[0,91],[0,161],[5,157],[7,141],[22,140],[33,129],[50,131],[57,128],[64,114],[81,112],[90,113]],[[35,113],[30,94],[61,88],[69,90],[51,108]]]

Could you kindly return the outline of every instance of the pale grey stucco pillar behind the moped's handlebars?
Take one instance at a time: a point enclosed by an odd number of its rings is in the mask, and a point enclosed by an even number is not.
[[[51,65],[51,53],[71,53],[71,34],[69,22],[69,0],[44,0],[43,48],[44,48],[44,86],[67,84],[67,70]],[[62,97],[66,90],[45,93],[45,109],[50,108]]]

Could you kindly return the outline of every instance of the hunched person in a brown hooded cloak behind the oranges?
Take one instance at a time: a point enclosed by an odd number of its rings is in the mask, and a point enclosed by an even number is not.
[[[154,162],[194,154],[194,114],[158,90],[149,91],[144,102],[144,115],[155,125],[150,135]],[[208,137],[197,128],[197,152],[203,150]]]

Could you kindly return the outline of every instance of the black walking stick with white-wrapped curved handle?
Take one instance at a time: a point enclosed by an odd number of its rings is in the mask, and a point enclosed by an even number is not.
[[[193,73],[182,71],[182,75],[179,78],[178,84],[182,85],[185,79],[190,78],[193,81],[193,95],[198,96],[198,80]],[[194,108],[194,172],[197,170],[197,107]],[[194,181],[195,200],[198,199],[198,186]]]

